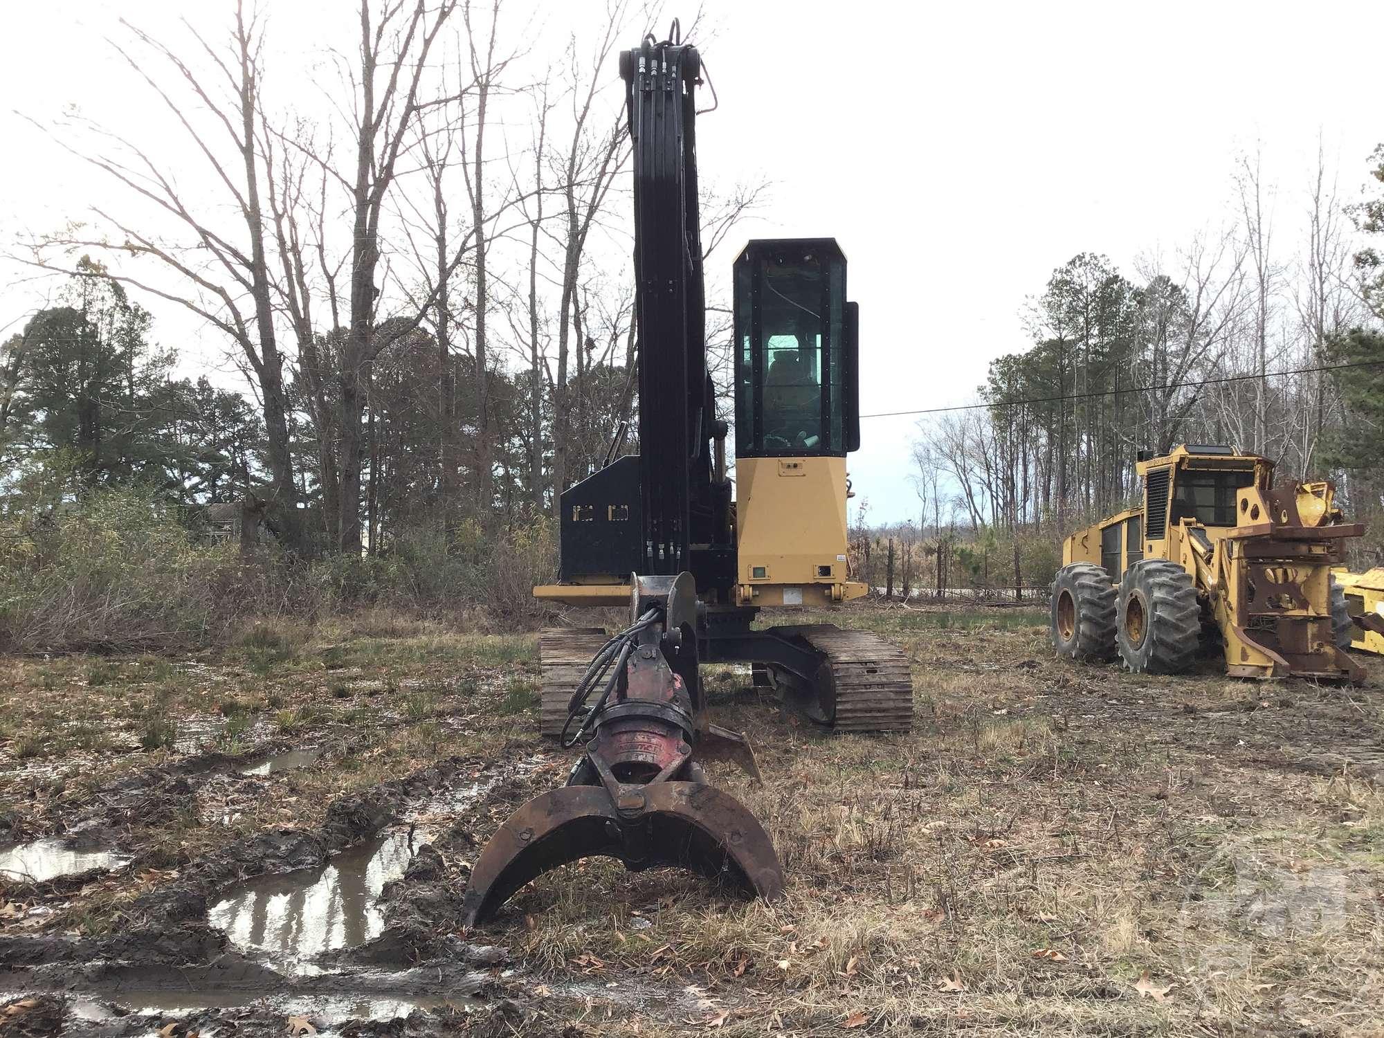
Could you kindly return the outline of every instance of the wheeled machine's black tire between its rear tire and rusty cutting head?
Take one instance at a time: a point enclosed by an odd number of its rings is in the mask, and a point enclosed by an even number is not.
[[[1120,581],[1116,645],[1135,674],[1178,674],[1201,645],[1201,606],[1192,574],[1167,559],[1145,559]]]

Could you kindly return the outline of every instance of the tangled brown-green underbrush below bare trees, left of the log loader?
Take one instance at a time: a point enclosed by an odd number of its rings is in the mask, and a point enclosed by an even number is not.
[[[447,536],[421,529],[358,558],[309,561],[277,544],[242,554],[199,537],[158,494],[89,491],[0,516],[0,650],[235,644],[270,666],[322,621],[382,637],[531,628],[544,612],[531,588],[551,579],[555,561],[547,520]]]

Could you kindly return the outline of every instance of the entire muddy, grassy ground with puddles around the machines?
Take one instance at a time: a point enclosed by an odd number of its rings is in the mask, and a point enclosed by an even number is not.
[[[588,861],[477,931],[469,864],[570,764],[536,637],[0,660],[0,1032],[1384,1034],[1384,660],[1135,677],[1034,609],[812,619],[902,645],[916,722],[826,736],[711,670],[782,904]]]

